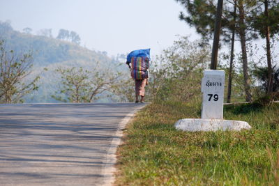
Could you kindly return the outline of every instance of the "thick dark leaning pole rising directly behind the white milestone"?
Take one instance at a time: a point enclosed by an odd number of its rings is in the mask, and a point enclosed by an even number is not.
[[[210,65],[211,70],[216,70],[217,68],[222,9],[223,9],[223,0],[218,0],[216,21],[214,26],[213,47],[212,47],[212,54],[211,54],[211,65]]]

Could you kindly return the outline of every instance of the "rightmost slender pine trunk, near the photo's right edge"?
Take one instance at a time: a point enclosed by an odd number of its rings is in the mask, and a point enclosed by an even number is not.
[[[269,1],[264,0],[264,15],[266,20],[269,20]],[[273,72],[272,72],[272,65],[271,65],[271,47],[270,47],[270,28],[268,23],[266,22],[265,25],[265,35],[266,35],[266,58],[267,58],[267,68],[269,72],[269,82],[267,93],[271,93],[273,91]]]

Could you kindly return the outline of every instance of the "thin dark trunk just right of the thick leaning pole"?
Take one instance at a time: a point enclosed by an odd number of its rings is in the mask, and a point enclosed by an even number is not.
[[[234,1],[234,26],[232,29],[232,46],[231,46],[231,56],[229,61],[229,82],[227,86],[227,103],[231,102],[232,95],[232,68],[234,62],[234,35],[235,35],[235,21],[236,21],[236,2]]]

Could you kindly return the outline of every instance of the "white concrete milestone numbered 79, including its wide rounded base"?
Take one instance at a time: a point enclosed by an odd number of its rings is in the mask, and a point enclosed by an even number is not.
[[[174,124],[177,130],[216,131],[249,130],[245,121],[223,120],[225,72],[224,70],[204,70],[202,78],[202,118],[184,118]]]

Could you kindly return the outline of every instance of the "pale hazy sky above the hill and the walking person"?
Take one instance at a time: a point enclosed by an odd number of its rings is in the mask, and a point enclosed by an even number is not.
[[[179,20],[183,8],[174,0],[0,0],[0,6],[0,20],[17,31],[52,29],[54,37],[59,29],[75,31],[82,46],[109,55],[150,47],[154,56],[177,34],[198,38]]]

